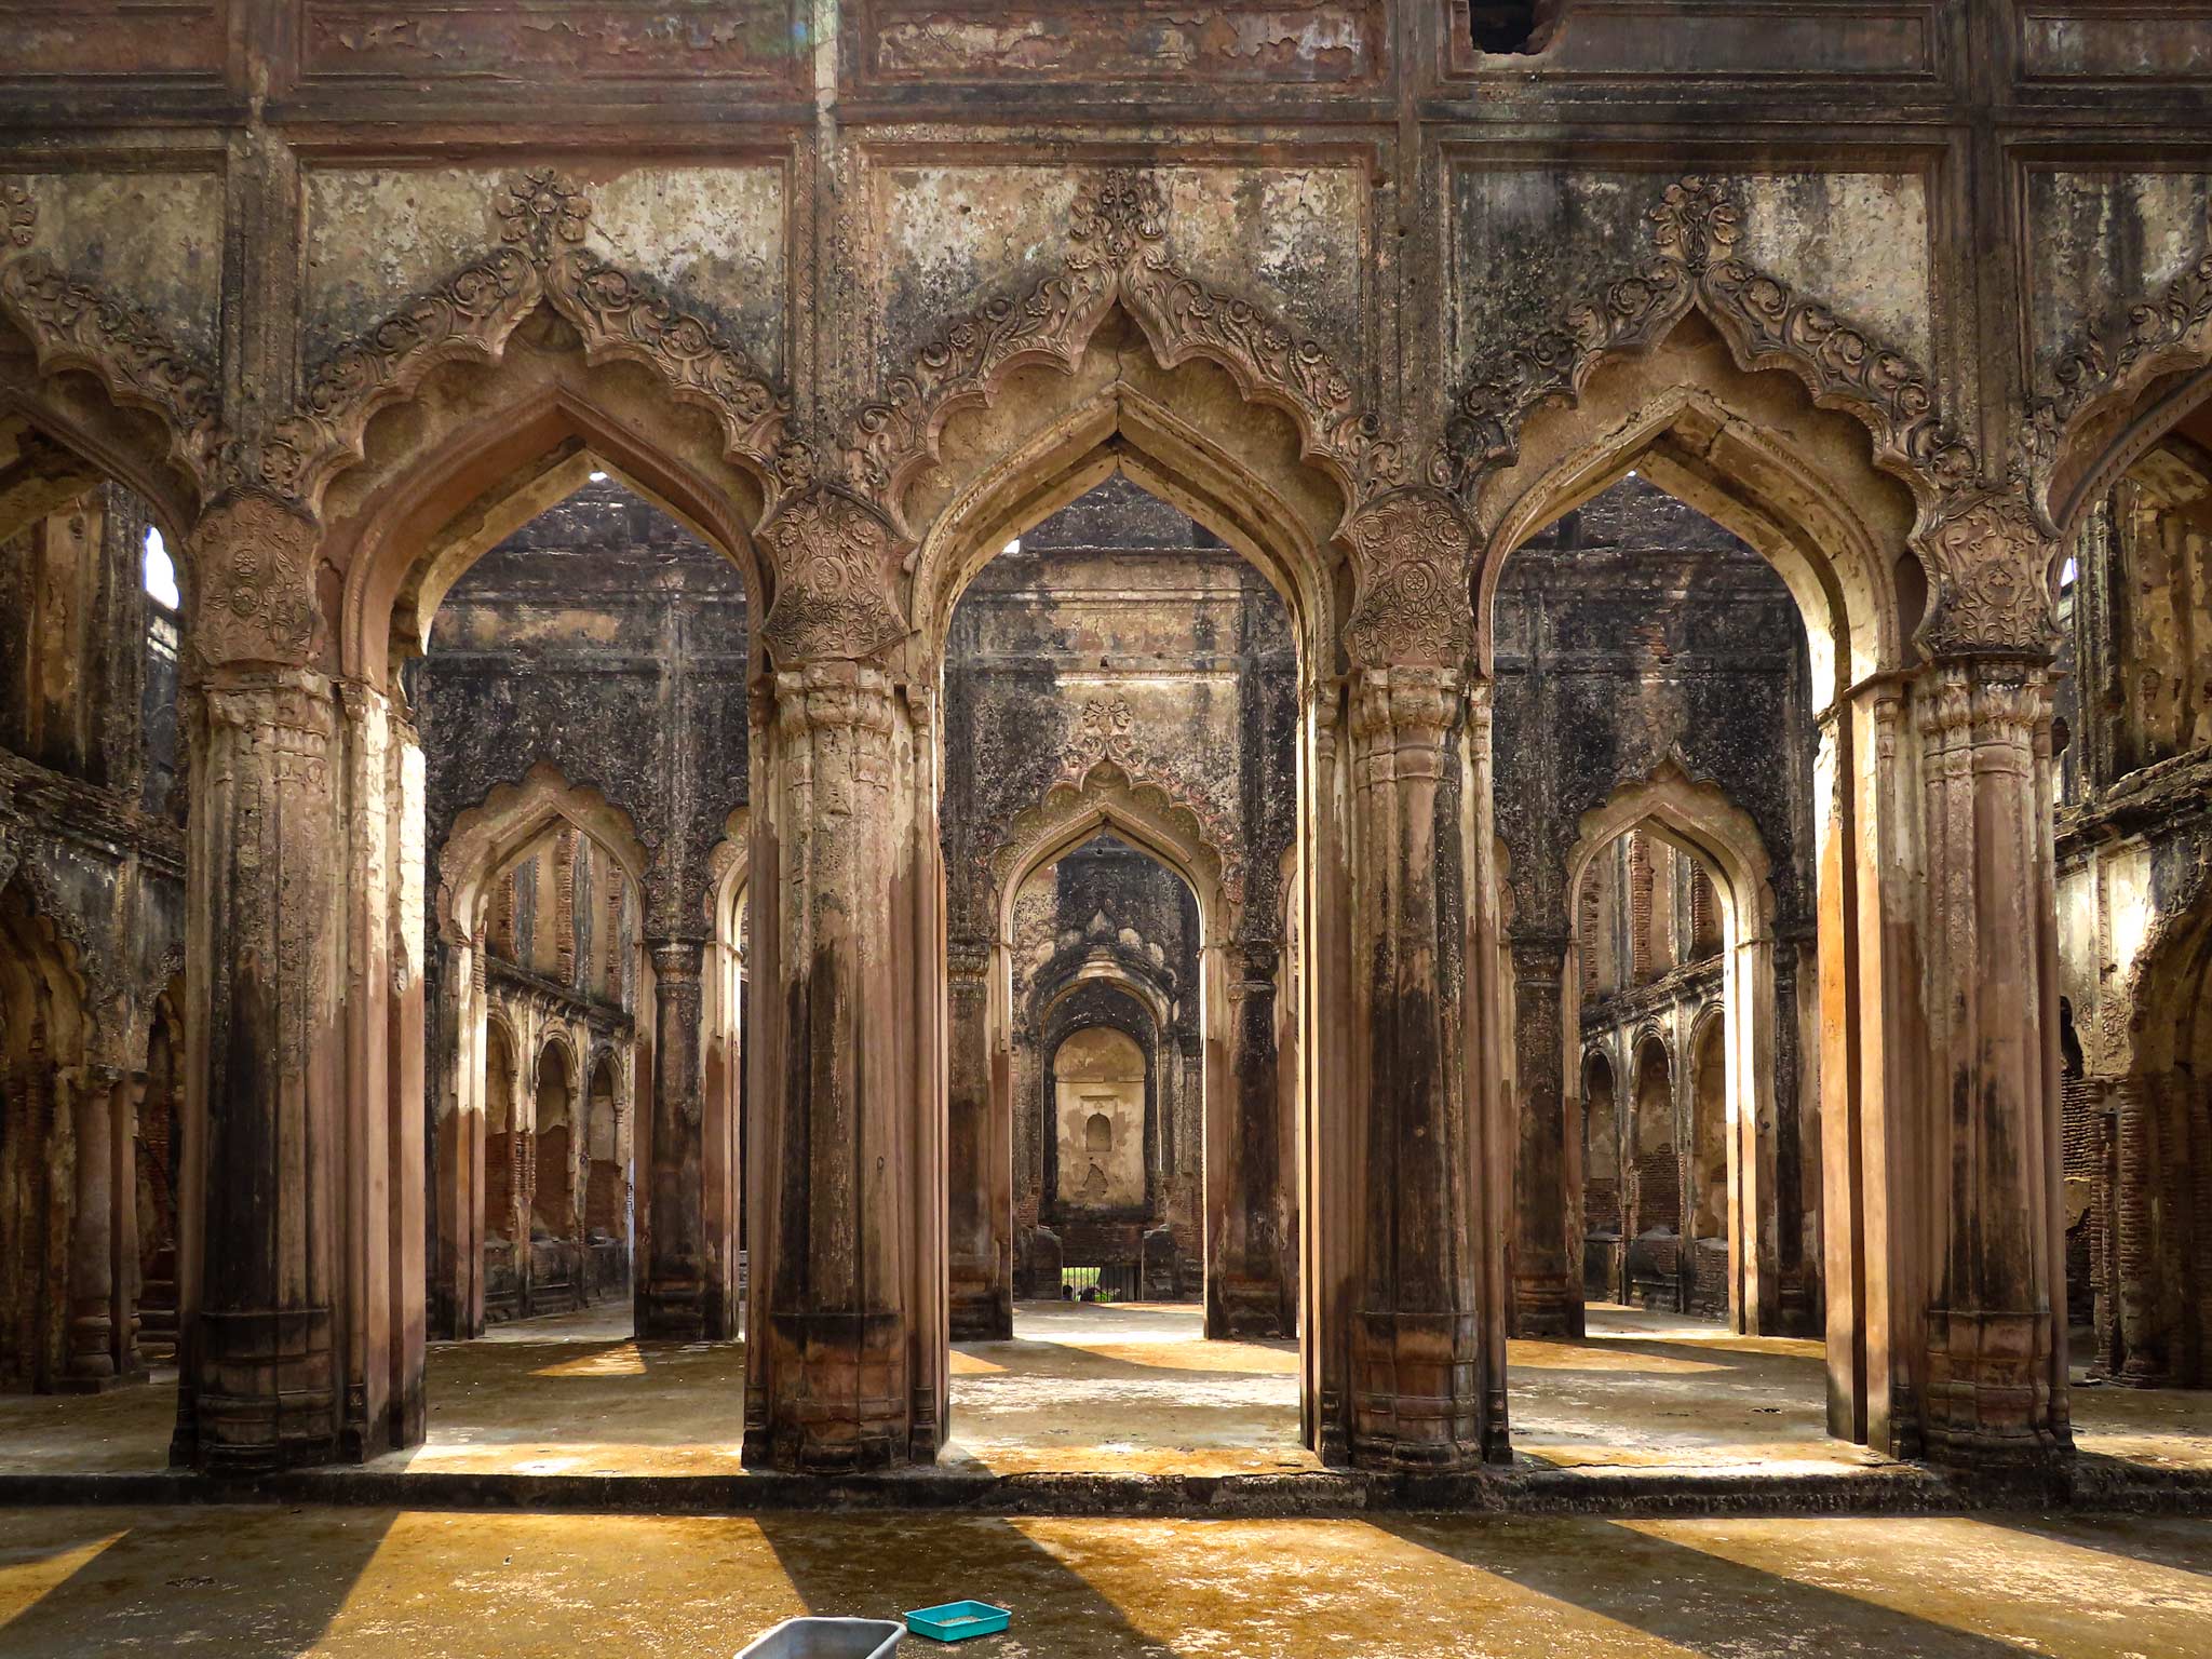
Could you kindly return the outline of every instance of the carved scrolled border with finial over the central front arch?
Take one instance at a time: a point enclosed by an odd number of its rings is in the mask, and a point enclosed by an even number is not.
[[[1360,409],[1352,369],[1267,307],[1177,268],[1152,173],[1108,168],[1075,199],[1060,268],[947,325],[880,398],[860,407],[841,440],[852,487],[909,533],[900,498],[911,476],[938,458],[945,422],[971,403],[991,403],[1018,367],[1073,374],[1115,303],[1137,321],[1161,365],[1206,358],[1248,400],[1290,414],[1301,456],[1336,478],[1347,507],[1402,482],[1402,447],[1376,414]]]

